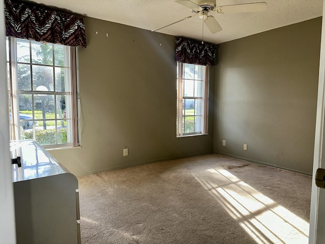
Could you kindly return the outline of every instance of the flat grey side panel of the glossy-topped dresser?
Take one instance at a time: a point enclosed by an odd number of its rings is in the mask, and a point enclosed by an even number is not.
[[[17,243],[78,243],[76,189],[71,173],[15,182]]]

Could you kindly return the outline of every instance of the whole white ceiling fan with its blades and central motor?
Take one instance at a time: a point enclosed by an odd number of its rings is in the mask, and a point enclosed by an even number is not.
[[[178,20],[174,23],[165,25],[163,27],[154,29],[152,32],[158,31],[158,29],[165,28],[172,24],[176,24],[180,21],[190,19],[196,15],[199,18],[203,19],[205,25],[208,27],[212,34],[220,32],[222,30],[219,23],[212,15],[208,15],[209,12],[216,12],[218,14],[234,14],[234,13],[248,13],[248,12],[263,12],[267,9],[267,4],[263,3],[251,3],[251,4],[237,4],[237,5],[228,5],[228,6],[219,6],[216,7],[216,0],[176,0],[175,2],[181,4],[192,10],[194,15],[187,16],[181,20]]]

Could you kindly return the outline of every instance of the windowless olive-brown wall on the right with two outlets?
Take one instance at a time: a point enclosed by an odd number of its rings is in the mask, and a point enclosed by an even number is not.
[[[214,153],[312,173],[320,33],[316,18],[219,45]]]

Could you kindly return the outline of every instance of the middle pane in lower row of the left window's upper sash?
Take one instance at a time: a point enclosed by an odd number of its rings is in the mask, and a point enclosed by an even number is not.
[[[54,92],[53,87],[53,68],[46,66],[32,66],[32,87],[34,90],[39,86],[45,86],[49,92]]]

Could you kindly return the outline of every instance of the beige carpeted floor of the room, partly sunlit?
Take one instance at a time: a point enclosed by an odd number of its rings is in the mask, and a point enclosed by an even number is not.
[[[311,176],[205,155],[78,177],[86,243],[308,243]]]

